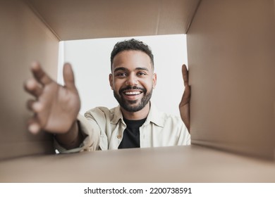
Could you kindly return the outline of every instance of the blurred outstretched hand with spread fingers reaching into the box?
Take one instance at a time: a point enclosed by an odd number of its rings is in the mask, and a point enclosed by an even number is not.
[[[68,132],[80,110],[80,97],[71,65],[64,64],[64,86],[51,80],[39,63],[33,63],[31,70],[35,79],[25,82],[25,90],[35,96],[35,99],[27,101],[27,108],[34,113],[28,122],[29,131],[33,134],[41,129],[56,134]]]

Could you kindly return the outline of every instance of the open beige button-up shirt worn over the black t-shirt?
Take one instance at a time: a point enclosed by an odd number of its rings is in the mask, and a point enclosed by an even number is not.
[[[80,130],[87,135],[83,143],[72,150],[55,143],[59,152],[118,149],[126,129],[120,106],[93,108],[85,113],[85,117],[78,115]],[[140,148],[182,145],[190,145],[190,134],[181,117],[160,112],[151,103],[147,119],[140,127]]]

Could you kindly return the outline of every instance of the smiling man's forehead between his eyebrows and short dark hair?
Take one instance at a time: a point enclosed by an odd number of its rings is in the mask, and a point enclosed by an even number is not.
[[[117,67],[127,68],[128,70],[135,70],[135,68],[152,70],[152,63],[149,56],[142,51],[121,51],[114,57],[112,72]]]

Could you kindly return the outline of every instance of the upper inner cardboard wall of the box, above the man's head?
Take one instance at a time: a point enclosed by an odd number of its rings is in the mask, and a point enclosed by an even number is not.
[[[28,0],[61,40],[184,34],[199,0]]]

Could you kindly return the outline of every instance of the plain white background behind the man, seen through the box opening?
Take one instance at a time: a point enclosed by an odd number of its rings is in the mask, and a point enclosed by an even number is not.
[[[80,114],[97,106],[118,106],[109,86],[110,56],[116,42],[132,37],[83,39],[60,43],[58,82],[63,84],[64,62],[73,65],[75,82],[81,99]],[[162,111],[179,115],[178,103],[183,95],[181,65],[187,65],[186,35],[133,37],[148,44],[154,54],[157,87],[152,100]]]

